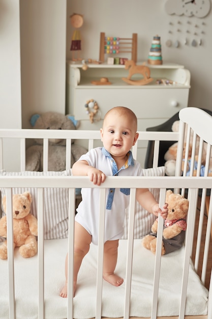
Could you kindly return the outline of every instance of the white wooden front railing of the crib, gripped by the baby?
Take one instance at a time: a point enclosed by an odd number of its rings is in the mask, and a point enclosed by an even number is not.
[[[96,290],[96,318],[101,318],[102,312],[102,274],[103,274],[103,244],[104,244],[104,217],[105,217],[105,194],[106,188],[130,188],[130,208],[129,208],[129,236],[126,261],[126,288],[125,288],[125,307],[123,310],[124,318],[129,318],[130,314],[130,297],[131,297],[131,276],[132,276],[132,257],[133,257],[133,236],[134,236],[134,215],[135,215],[135,193],[136,188],[160,188],[160,206],[165,202],[166,189],[187,188],[189,189],[189,212],[188,212],[188,227],[186,232],[185,258],[184,258],[184,273],[181,282],[181,300],[179,309],[179,319],[185,316],[186,307],[186,291],[189,274],[189,261],[193,245],[193,227],[196,209],[197,185],[200,189],[209,189],[211,187],[212,177],[107,177],[106,181],[100,185],[100,222],[99,222],[99,245],[98,245],[98,273],[97,273],[97,290]],[[10,303],[10,319],[15,319],[15,295],[14,295],[14,255],[13,255],[13,218],[12,218],[12,188],[26,187],[38,189],[38,260],[39,260],[39,297],[38,297],[38,318],[45,318],[45,303],[44,303],[44,234],[43,234],[43,190],[44,188],[68,188],[69,189],[69,252],[73,252],[74,246],[74,216],[75,216],[75,188],[95,188],[88,177],[77,176],[3,176],[0,179],[0,187],[6,188],[7,207],[8,207],[8,276],[9,276],[9,303]],[[212,215],[212,203],[210,201],[209,214]],[[161,263],[161,243],[163,221],[159,218],[158,229],[158,244],[155,260],[155,277],[152,300],[152,319],[157,318],[157,304],[159,295],[159,279],[160,279],[160,263]],[[211,227],[211,222],[208,220],[208,228]],[[210,236],[210,233],[207,234]],[[69,253],[69,281],[68,281],[68,303],[67,303],[67,318],[73,318],[73,253]],[[207,318],[212,317],[211,308],[211,292],[209,291],[208,314]]]

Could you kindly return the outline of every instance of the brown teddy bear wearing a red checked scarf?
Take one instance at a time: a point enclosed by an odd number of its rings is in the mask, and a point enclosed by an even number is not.
[[[163,242],[161,254],[168,254],[179,249],[185,238],[187,227],[186,216],[189,209],[189,201],[180,194],[174,194],[171,190],[166,192],[166,203],[168,203],[168,216],[164,222]],[[142,240],[143,247],[156,253],[158,220],[152,226],[152,232]]]

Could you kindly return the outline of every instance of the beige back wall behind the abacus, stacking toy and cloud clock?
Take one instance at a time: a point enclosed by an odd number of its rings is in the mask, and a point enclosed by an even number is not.
[[[84,24],[80,30],[81,56],[85,59],[99,58],[100,32],[116,37],[130,37],[132,33],[137,33],[138,60],[146,61],[153,36],[158,34],[161,37],[163,61],[184,65],[191,72],[189,106],[212,110],[212,10],[203,19],[194,16],[188,18],[185,15],[170,16],[165,13],[165,3],[166,0],[69,1],[67,4],[67,58],[71,59],[70,43],[73,33],[69,16],[74,12],[84,16]],[[188,21],[190,23],[187,23]],[[202,22],[205,25],[202,25]],[[169,31],[172,33],[170,34]],[[202,31],[204,34],[201,33]],[[184,44],[186,38],[187,45]],[[198,43],[200,38],[201,46],[191,45],[193,39]],[[172,40],[171,47],[166,46],[168,39]],[[174,46],[176,40],[180,43],[178,48]]]

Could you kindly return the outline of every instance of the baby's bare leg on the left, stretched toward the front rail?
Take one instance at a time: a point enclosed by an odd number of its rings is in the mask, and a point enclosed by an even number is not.
[[[79,223],[75,222],[74,229],[74,286],[73,292],[75,294],[77,286],[77,275],[82,263],[82,259],[88,253],[92,236],[82,227]],[[68,296],[68,254],[66,256],[65,264],[66,282],[63,289],[60,291],[59,296],[67,298]]]

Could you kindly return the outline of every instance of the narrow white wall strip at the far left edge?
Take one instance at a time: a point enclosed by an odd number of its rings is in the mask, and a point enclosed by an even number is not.
[[[0,127],[21,128],[19,2],[0,1]]]

